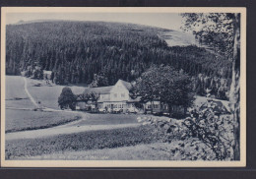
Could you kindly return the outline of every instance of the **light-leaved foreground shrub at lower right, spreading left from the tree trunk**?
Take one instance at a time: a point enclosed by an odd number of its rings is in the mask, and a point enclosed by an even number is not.
[[[193,109],[184,120],[172,122],[158,118],[138,119],[143,124],[155,126],[164,143],[178,141],[177,148],[170,149],[170,156],[180,159],[228,160],[233,142],[232,121],[228,115],[217,115],[213,107]]]

